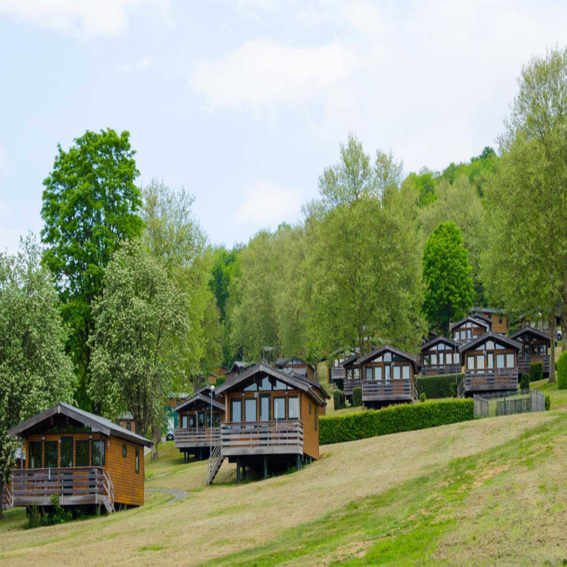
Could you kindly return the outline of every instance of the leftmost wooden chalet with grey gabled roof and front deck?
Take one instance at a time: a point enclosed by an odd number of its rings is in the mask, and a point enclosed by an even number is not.
[[[10,506],[142,506],[144,447],[153,443],[62,402],[8,431],[26,451],[11,471]]]

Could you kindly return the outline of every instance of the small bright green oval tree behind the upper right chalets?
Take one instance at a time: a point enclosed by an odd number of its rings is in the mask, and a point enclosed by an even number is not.
[[[475,291],[468,251],[454,222],[440,223],[425,243],[423,310],[431,327],[449,336],[449,324],[467,315]]]

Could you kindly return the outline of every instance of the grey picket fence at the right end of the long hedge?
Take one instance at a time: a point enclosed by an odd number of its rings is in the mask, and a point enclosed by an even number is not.
[[[545,411],[545,396],[538,390],[475,393],[475,419]]]

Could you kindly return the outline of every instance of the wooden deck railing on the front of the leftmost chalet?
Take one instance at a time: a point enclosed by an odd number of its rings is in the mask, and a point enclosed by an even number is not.
[[[13,506],[61,506],[101,504],[114,511],[114,487],[103,467],[31,468],[12,471]]]

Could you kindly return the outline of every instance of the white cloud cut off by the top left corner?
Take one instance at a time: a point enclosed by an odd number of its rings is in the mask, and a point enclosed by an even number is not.
[[[169,4],[169,0],[0,0],[0,15],[73,36],[116,36],[128,28],[134,12]]]

